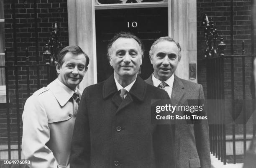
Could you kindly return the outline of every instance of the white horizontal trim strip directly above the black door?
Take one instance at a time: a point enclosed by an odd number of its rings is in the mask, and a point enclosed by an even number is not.
[[[125,3],[125,4],[104,4],[104,5],[95,5],[95,10],[104,10],[104,9],[127,9],[127,8],[146,8],[146,7],[168,7],[168,2],[144,2],[144,3]]]

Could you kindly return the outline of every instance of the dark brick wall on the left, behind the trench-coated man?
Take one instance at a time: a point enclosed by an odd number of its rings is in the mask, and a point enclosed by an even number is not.
[[[35,4],[36,2],[36,4]],[[14,3],[14,6],[13,4]],[[36,6],[35,6],[36,5]],[[15,10],[13,10],[15,7]],[[59,42],[63,44],[59,50],[68,45],[67,0],[5,0],[5,48],[7,49],[6,65],[45,64],[43,53],[48,42],[52,25],[59,25]],[[35,18],[37,17],[37,19]],[[15,18],[15,19],[14,19]],[[35,23],[37,22],[37,23]],[[36,31],[37,26],[37,31]],[[16,29],[14,29],[16,27]],[[15,33],[16,32],[16,33]],[[15,38],[16,36],[16,38]],[[38,46],[38,47],[37,47]],[[26,62],[26,48],[28,48],[29,62]],[[39,83],[37,71],[39,70]],[[17,111],[21,115],[27,99],[26,67],[8,69],[10,93],[10,129],[11,141],[17,141]],[[18,76],[18,106],[16,104],[15,76]],[[47,85],[46,67],[30,67],[30,94],[38,88]],[[7,142],[6,109],[0,107],[0,144]],[[19,110],[17,110],[19,107]],[[20,124],[22,126],[22,124]],[[22,130],[21,130],[22,131]]]

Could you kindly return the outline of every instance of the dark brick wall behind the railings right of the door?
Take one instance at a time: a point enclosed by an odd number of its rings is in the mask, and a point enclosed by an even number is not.
[[[215,26],[220,35],[223,35],[226,44],[225,55],[231,54],[230,35],[231,35],[231,4],[230,0],[197,0],[197,59],[198,59],[198,83],[202,84],[207,98],[206,86],[206,61],[204,59],[204,27],[202,25],[202,16],[204,13],[212,17]],[[242,54],[242,41],[245,42],[245,54],[251,52],[251,0],[233,0],[233,54]],[[255,39],[255,38],[254,38]],[[218,41],[219,43],[219,41]],[[255,47],[256,49],[256,47]],[[254,49],[254,50],[255,50]],[[251,57],[245,59],[245,93],[246,99],[252,99],[251,96]],[[211,73],[215,73],[212,71]],[[243,99],[243,75],[242,59],[234,58],[234,93],[235,99]],[[224,89],[225,99],[231,99],[231,63],[230,59],[224,61]],[[230,106],[230,105],[226,105]],[[251,116],[252,104],[246,107],[246,118]],[[229,111],[225,111],[229,112]],[[226,126],[226,133],[231,134],[231,126]],[[252,132],[251,121],[247,123],[247,133]],[[236,125],[236,133],[243,133],[243,125]]]

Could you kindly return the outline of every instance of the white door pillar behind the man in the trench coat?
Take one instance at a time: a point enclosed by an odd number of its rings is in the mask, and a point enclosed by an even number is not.
[[[90,58],[88,70],[78,88],[97,83],[94,0],[68,0],[69,45],[78,45]]]

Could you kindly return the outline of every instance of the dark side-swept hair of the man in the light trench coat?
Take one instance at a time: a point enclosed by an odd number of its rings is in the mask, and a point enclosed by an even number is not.
[[[60,64],[60,66],[62,66],[62,64],[64,63],[63,59],[64,59],[65,55],[67,54],[67,52],[71,52],[72,54],[75,54],[75,55],[84,54],[84,57],[86,58],[85,67],[88,66],[89,61],[90,61],[88,55],[85,54],[85,52],[77,45],[71,45],[71,46],[65,47],[64,49],[61,49],[61,51],[59,52],[58,57],[57,57],[57,62]]]

